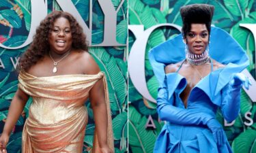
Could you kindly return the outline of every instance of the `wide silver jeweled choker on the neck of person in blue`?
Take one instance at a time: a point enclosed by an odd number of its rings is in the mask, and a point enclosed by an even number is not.
[[[191,52],[186,52],[186,60],[190,65],[203,65],[207,63],[210,59],[210,56],[207,51],[203,54],[193,54]]]

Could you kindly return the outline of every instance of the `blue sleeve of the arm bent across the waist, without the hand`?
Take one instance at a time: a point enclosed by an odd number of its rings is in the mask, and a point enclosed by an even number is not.
[[[196,112],[190,109],[184,109],[173,106],[174,93],[168,99],[168,90],[166,80],[160,88],[158,88],[157,111],[161,120],[166,120],[174,124],[207,124],[209,120],[214,118],[210,114]]]

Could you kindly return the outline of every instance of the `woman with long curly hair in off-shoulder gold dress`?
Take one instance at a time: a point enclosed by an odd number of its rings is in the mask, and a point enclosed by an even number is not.
[[[83,152],[88,98],[96,124],[93,152],[113,153],[106,78],[85,41],[82,27],[67,12],[52,12],[40,22],[20,60],[18,90],[0,138],[0,152],[6,152],[12,128],[31,96],[23,153]]]

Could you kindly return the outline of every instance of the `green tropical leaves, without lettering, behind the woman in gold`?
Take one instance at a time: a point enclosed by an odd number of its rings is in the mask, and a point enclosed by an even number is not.
[[[46,0],[47,1],[47,0]],[[72,0],[76,9],[88,25],[89,22],[89,1]],[[93,4],[92,19],[92,44],[100,44],[103,40],[104,14],[98,1],[91,0]],[[112,0],[117,9],[120,0]],[[61,10],[55,0],[48,0],[48,13],[53,10]],[[117,41],[126,44],[127,39],[127,11],[128,2],[124,1],[121,9],[117,13]],[[20,46],[27,39],[31,23],[31,2],[28,0],[1,0],[0,1],[0,43],[5,46]],[[20,54],[23,54],[28,46],[18,50],[7,50],[0,48],[0,58],[4,65],[0,67],[0,133],[3,131],[5,118],[8,114],[10,102],[17,90],[17,73],[12,65],[10,57],[15,61]],[[109,98],[111,102],[111,112],[113,118],[113,135],[115,139],[115,152],[127,152],[127,49],[126,46],[119,47],[91,47],[89,52],[95,58],[100,69],[106,74]],[[26,118],[28,117],[30,98],[25,106],[22,116],[18,119],[16,126],[10,136],[7,146],[8,153],[21,152],[21,136]],[[93,112],[89,101],[85,103],[88,107],[89,122],[86,127],[83,152],[91,152],[95,124]]]

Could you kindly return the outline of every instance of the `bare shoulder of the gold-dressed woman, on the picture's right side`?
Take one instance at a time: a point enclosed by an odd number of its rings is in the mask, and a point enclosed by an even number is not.
[[[77,52],[79,54],[78,61],[79,66],[83,67],[82,71],[85,74],[97,74],[100,72],[100,68],[98,67],[98,64],[94,60],[94,58],[89,54],[89,52],[86,51],[79,51]]]

